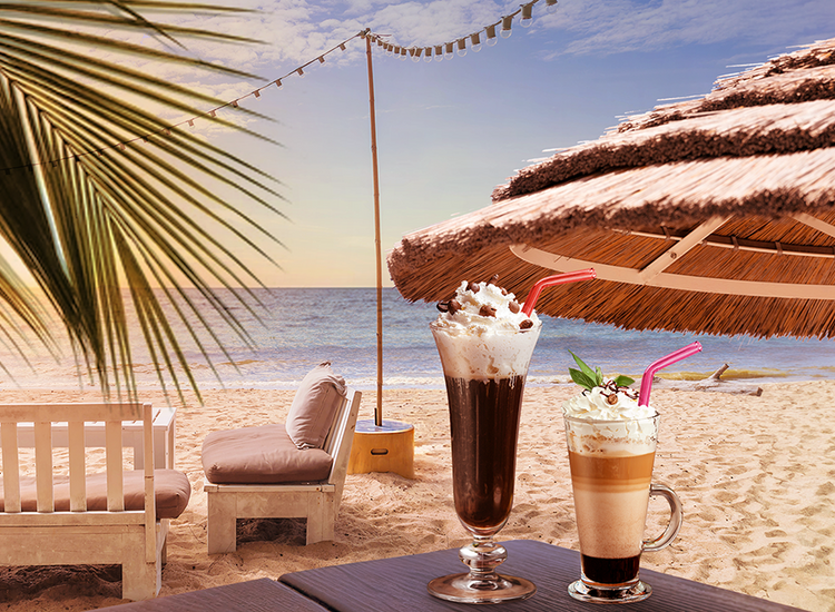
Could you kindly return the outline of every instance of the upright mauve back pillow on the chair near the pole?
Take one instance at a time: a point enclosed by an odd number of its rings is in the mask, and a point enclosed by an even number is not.
[[[322,448],[346,394],[345,379],[334,374],[331,362],[307,373],[293,398],[285,424],[298,448]]]

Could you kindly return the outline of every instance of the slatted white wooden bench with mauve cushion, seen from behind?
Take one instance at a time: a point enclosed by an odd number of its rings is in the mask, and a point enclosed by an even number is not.
[[[0,405],[0,565],[119,564],[122,598],[156,596],[168,521],[185,510],[191,487],[180,472],[153,470],[151,418],[151,405],[141,403]],[[124,470],[122,421],[143,422],[149,470]],[[105,473],[87,473],[86,422],[106,423]],[[21,461],[32,453],[19,450],[18,423],[35,423],[33,477],[32,462]],[[55,465],[53,425],[69,436]]]

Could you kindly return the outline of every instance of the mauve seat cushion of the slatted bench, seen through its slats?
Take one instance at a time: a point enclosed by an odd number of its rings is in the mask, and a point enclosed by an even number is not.
[[[145,509],[145,471],[126,470],[122,472],[122,493],[125,510]],[[52,495],[56,512],[69,512],[69,478],[55,476]],[[157,519],[176,519],[188,505],[191,497],[191,484],[183,472],[176,470],[154,471],[154,493],[157,505]],[[20,505],[23,512],[37,512],[38,488],[35,477],[20,478]],[[4,510],[2,483],[0,483],[0,512]],[[87,510],[107,510],[107,474],[87,476]]]

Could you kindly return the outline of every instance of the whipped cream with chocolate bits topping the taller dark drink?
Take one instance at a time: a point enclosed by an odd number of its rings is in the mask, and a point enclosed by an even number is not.
[[[490,379],[525,376],[542,324],[525,316],[512,293],[492,283],[462,282],[430,324],[444,375]]]

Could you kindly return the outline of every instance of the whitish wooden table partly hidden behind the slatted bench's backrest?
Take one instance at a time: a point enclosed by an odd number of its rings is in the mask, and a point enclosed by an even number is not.
[[[154,408],[154,466],[157,470],[174,470],[174,438],[176,434],[177,408]],[[67,424],[56,423],[52,427],[52,448],[69,447]],[[121,445],[134,448],[134,468],[145,468],[143,447],[143,422],[125,421],[121,424]],[[18,446],[35,448],[35,424],[18,424]],[[85,424],[85,446],[105,447],[105,424]]]

